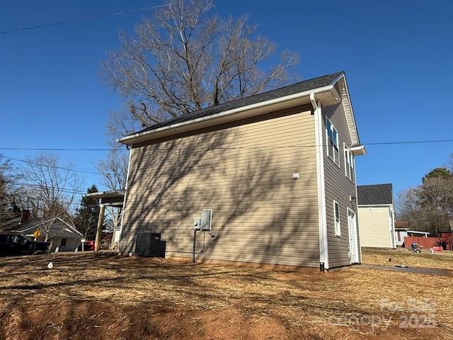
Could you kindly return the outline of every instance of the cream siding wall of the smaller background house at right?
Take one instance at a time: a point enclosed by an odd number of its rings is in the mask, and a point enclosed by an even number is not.
[[[359,207],[360,244],[362,246],[391,248],[389,207]]]

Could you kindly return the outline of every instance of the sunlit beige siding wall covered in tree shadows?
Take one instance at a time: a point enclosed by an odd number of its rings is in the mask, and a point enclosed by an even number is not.
[[[193,217],[210,208],[197,259],[319,266],[314,145],[304,106],[134,147],[120,251],[152,230],[167,256],[191,257]]]

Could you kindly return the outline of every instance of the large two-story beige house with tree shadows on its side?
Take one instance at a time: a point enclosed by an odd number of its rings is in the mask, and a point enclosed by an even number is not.
[[[120,253],[137,231],[166,256],[333,268],[360,263],[355,155],[360,145],[339,72],[204,108],[123,137],[130,146]]]

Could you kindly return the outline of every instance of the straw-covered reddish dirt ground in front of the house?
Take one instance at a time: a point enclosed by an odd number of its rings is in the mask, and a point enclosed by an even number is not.
[[[453,256],[366,250],[363,259],[393,266],[396,255],[449,275],[111,252],[1,258],[0,339],[453,339]]]

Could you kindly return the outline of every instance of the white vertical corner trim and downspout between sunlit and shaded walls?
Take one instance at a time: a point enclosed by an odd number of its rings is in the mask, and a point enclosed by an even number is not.
[[[319,225],[319,262],[328,269],[327,217],[326,217],[326,185],[324,183],[324,147],[323,118],[321,106],[316,103],[314,94],[310,94],[314,108],[314,128],[316,145],[316,183],[318,188],[318,225]]]

